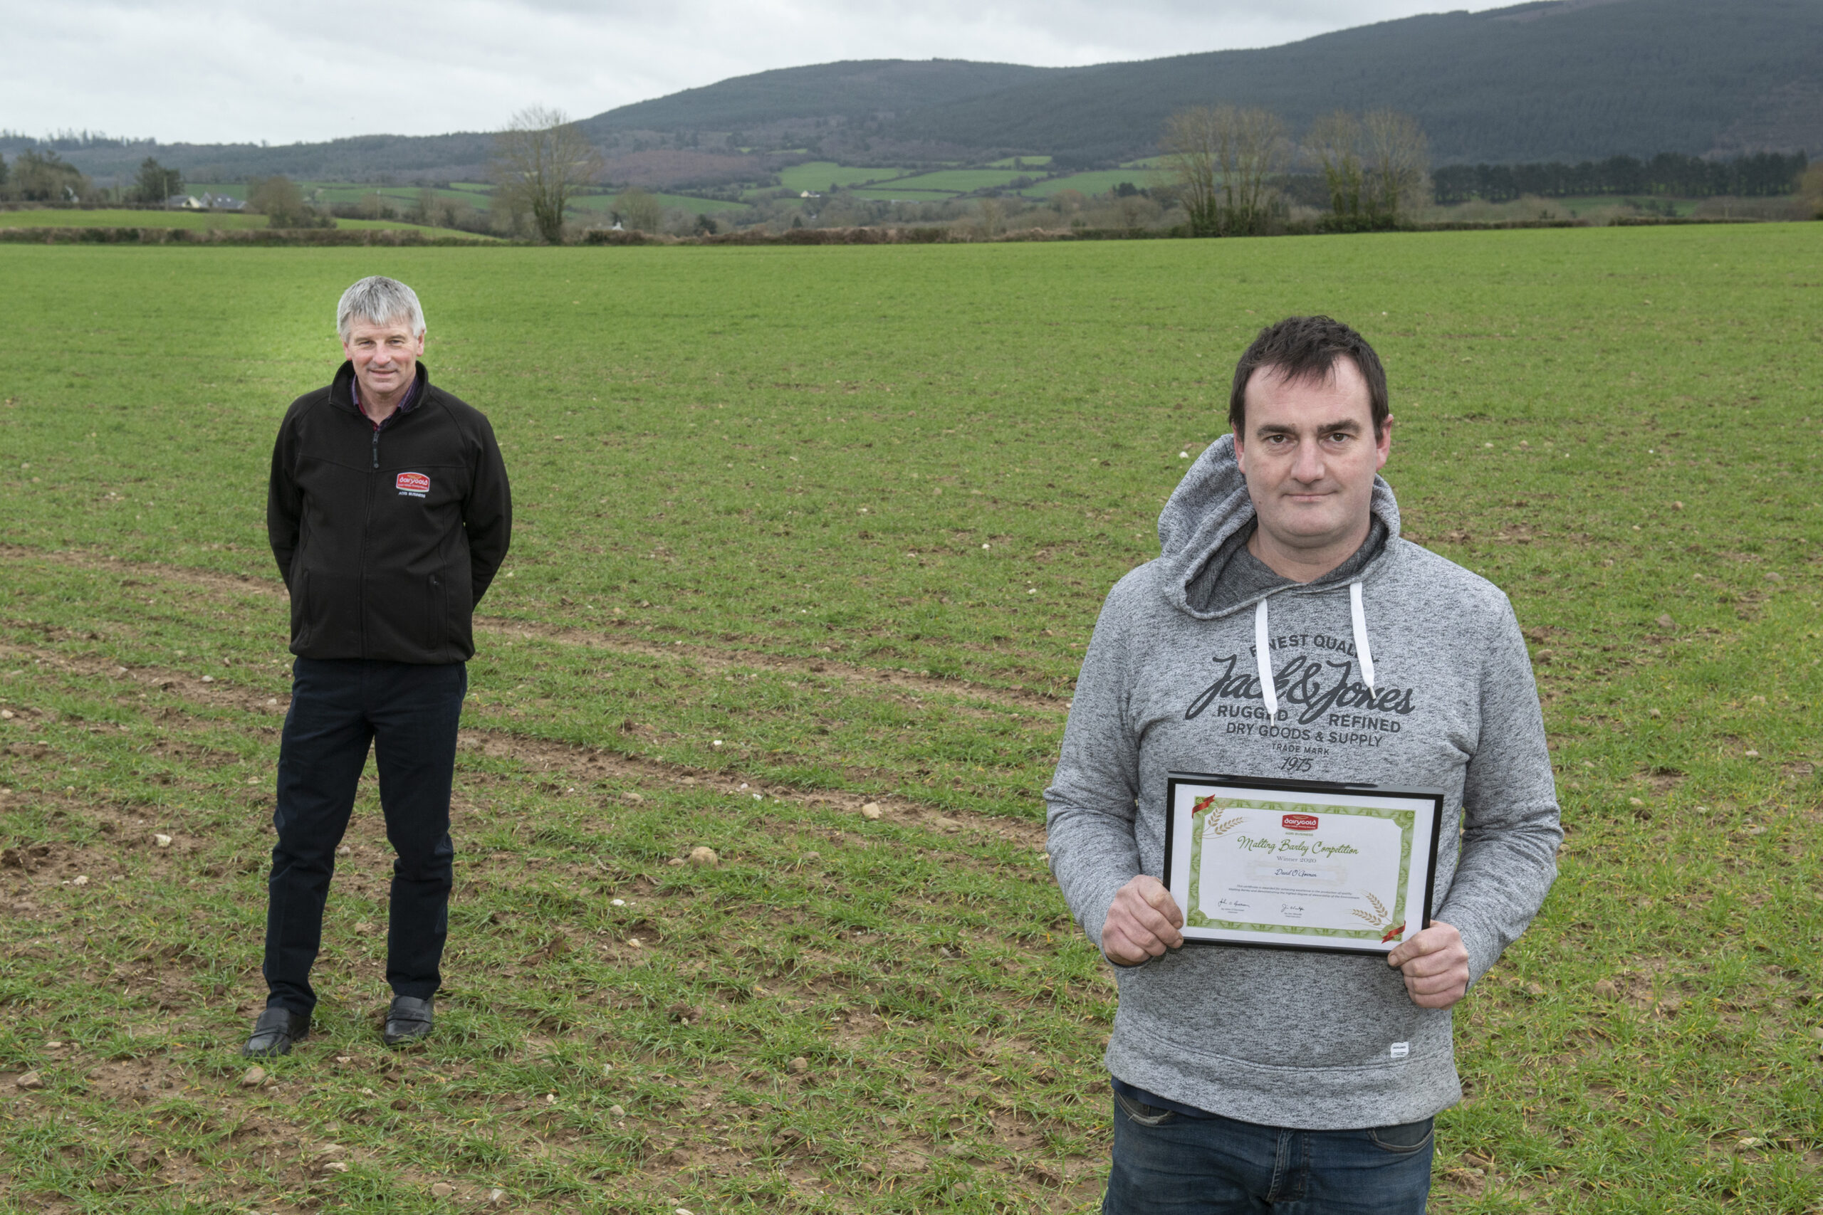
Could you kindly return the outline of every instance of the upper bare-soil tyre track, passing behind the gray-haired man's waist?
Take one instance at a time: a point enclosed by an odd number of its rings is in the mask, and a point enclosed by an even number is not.
[[[157,561],[118,561],[115,557],[100,557],[93,552],[82,550],[44,552],[24,545],[0,545],[0,561],[58,561],[88,570],[118,570],[122,574],[137,574],[140,577],[157,577],[171,583],[182,583],[186,587],[199,587],[213,594],[233,592],[241,596],[290,597],[283,583],[253,577],[252,574],[217,574],[211,570],[197,570]],[[886,670],[882,667],[860,667],[857,663],[842,663],[824,658],[782,658],[778,654],[766,654],[764,650],[726,650],[698,643],[647,641],[644,638],[614,636],[614,632],[609,630],[545,625],[536,621],[505,619],[500,616],[476,616],[474,627],[476,632],[492,636],[552,641],[556,645],[574,645],[598,650],[618,650],[623,654],[644,654],[649,658],[691,659],[713,674],[736,669],[758,669],[800,678],[822,676],[829,679],[888,687],[899,692],[939,694],[963,701],[981,699],[1023,712],[1061,712],[1070,707],[1070,701],[1065,696],[1052,696],[1028,689],[986,687],[966,679],[941,679],[937,676]]]

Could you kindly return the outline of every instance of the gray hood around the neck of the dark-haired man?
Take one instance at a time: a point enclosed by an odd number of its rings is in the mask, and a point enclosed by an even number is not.
[[[1309,583],[1285,583],[1214,610],[1194,607],[1190,585],[1212,559],[1231,556],[1236,537],[1249,532],[1256,517],[1252,499],[1247,495],[1247,477],[1241,475],[1240,461],[1234,459],[1234,435],[1221,435],[1196,457],[1158,516],[1159,563],[1163,567],[1158,577],[1159,592],[1185,616],[1216,619],[1254,607],[1260,599],[1280,592],[1325,592],[1349,581],[1365,583],[1385,568],[1398,550],[1398,501],[1393,497],[1393,486],[1378,474],[1373,479],[1373,497],[1367,510],[1385,526],[1385,543],[1365,568],[1338,577],[1336,574],[1351,565],[1345,561],[1344,567]]]

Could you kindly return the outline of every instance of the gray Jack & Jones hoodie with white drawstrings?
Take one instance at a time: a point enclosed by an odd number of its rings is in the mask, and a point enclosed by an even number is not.
[[[1371,510],[1384,536],[1327,577],[1241,568],[1254,508],[1225,435],[1165,505],[1163,554],[1108,594],[1045,791],[1052,873],[1097,947],[1114,893],[1159,876],[1172,771],[1446,789],[1433,918],[1460,929],[1471,982],[1539,911],[1562,831],[1519,621],[1493,583],[1400,539],[1380,477]],[[1384,958],[1187,945],[1117,978],[1108,1071],[1174,1102],[1345,1129],[1462,1097],[1449,1011],[1413,1004]]]

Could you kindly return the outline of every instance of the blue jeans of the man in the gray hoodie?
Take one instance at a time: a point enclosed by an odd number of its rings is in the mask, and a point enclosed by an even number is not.
[[[1431,1118],[1294,1131],[1192,1118],[1114,1095],[1103,1215],[1424,1215]]]

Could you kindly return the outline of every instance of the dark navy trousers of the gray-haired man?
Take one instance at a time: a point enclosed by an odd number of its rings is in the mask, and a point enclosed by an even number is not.
[[[394,995],[419,1000],[443,982],[438,964],[448,936],[456,856],[450,781],[467,692],[463,663],[299,658],[292,665],[292,709],[279,743],[279,809],[272,816],[279,843],[266,887],[268,1006],[306,1016],[315,1009],[310,967],[323,940],[323,902],[370,743],[386,840],[397,853],[386,982]]]

